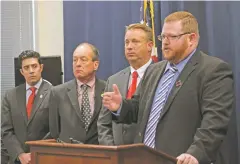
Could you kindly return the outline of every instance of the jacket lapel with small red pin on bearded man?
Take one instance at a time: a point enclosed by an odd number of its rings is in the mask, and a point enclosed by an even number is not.
[[[161,113],[160,119],[164,116],[164,114],[168,111],[170,108],[174,98],[176,97],[177,93],[181,88],[184,87],[184,83],[187,80],[188,76],[194,71],[197,65],[197,58],[198,54],[194,54],[192,58],[189,60],[189,62],[185,65],[184,69],[180,73],[179,77],[177,78],[175,84],[173,85],[172,90],[170,91],[170,94],[168,96],[168,99],[166,101],[166,104],[163,108],[163,111]],[[185,86],[189,87],[189,86]]]

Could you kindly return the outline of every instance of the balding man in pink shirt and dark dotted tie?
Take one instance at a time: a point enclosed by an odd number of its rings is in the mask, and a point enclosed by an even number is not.
[[[50,96],[50,132],[63,142],[98,144],[97,119],[105,82],[96,78],[99,53],[82,43],[73,52],[75,79],[53,87]]]

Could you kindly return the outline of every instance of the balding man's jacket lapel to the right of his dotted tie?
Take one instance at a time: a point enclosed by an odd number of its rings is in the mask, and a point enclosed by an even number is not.
[[[91,119],[91,123],[95,120],[95,118],[98,116],[98,113],[100,112],[101,106],[102,106],[102,98],[101,94],[104,92],[105,87],[99,82],[99,80],[96,78],[95,82],[95,96],[94,96],[94,111],[93,116]]]

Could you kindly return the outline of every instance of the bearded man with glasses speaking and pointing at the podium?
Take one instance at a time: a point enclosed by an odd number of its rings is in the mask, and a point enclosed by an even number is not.
[[[103,105],[115,111],[116,121],[138,123],[136,143],[177,156],[177,164],[213,163],[233,109],[232,71],[197,49],[191,13],[167,16],[159,39],[166,60],[149,66],[131,100],[113,85]]]

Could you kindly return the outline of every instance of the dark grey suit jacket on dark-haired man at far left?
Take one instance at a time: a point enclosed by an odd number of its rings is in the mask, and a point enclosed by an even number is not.
[[[48,102],[51,84],[45,80],[37,92],[30,119],[26,114],[26,84],[6,92],[2,100],[2,140],[12,162],[29,152],[26,141],[41,140],[49,135]]]

